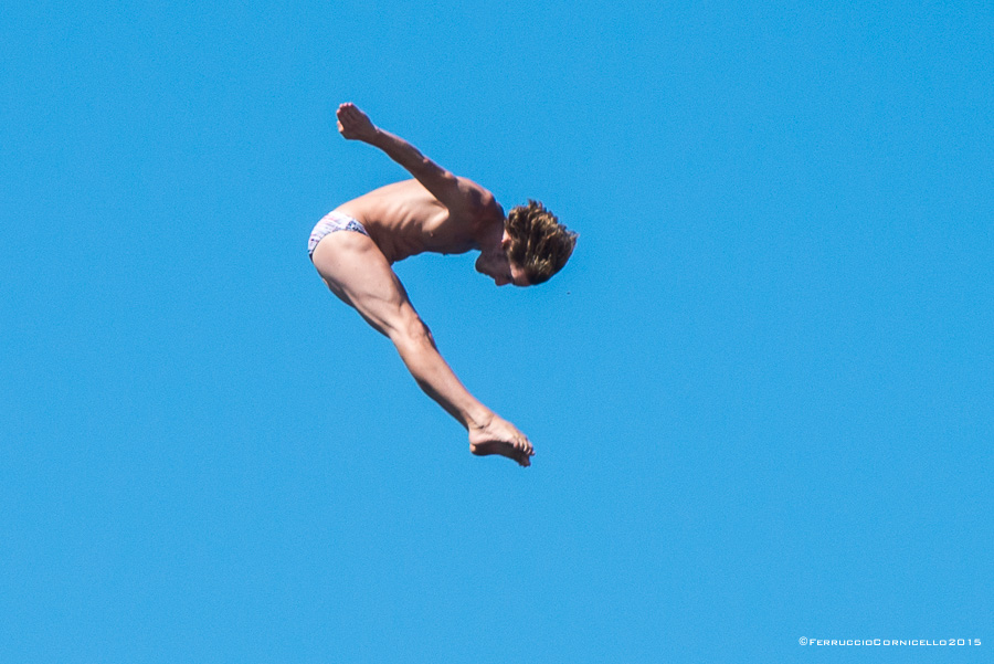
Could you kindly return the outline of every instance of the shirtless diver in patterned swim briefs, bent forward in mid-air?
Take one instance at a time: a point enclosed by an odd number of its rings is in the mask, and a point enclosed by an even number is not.
[[[335,295],[393,341],[421,389],[469,432],[473,454],[501,454],[530,465],[531,442],[463,387],[391,265],[422,252],[478,250],[477,272],[498,286],[529,286],[562,268],[577,234],[535,201],[505,218],[489,191],[380,129],[355,105],[342,104],[337,115],[345,138],[380,148],[414,179],[376,189],[318,222],[308,243],[318,274]]]

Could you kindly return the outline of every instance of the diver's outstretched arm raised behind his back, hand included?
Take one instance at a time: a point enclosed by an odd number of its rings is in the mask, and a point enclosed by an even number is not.
[[[457,178],[403,138],[377,127],[355,104],[342,104],[337,115],[338,130],[343,137],[383,150],[450,210],[469,211],[479,204],[482,191],[478,186]]]

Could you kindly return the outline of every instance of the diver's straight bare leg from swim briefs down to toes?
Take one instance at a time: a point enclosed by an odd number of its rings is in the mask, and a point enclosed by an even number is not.
[[[393,341],[421,389],[468,430],[475,454],[501,454],[530,465],[531,443],[463,387],[370,238],[349,231],[330,233],[311,259],[328,288]]]

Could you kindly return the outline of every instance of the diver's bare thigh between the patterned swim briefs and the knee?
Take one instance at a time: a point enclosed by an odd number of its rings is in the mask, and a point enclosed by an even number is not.
[[[314,266],[328,288],[380,333],[416,316],[400,280],[377,244],[362,233],[329,233],[314,250]]]

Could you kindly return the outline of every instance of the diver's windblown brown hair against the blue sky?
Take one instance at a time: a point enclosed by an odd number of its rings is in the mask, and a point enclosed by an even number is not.
[[[538,201],[512,208],[504,228],[511,239],[507,257],[525,271],[532,285],[549,281],[562,270],[577,244],[578,234]]]

